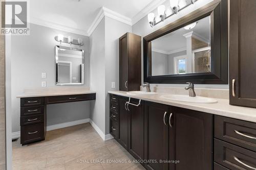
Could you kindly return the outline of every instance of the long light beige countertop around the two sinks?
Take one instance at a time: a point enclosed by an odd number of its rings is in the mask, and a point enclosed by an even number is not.
[[[150,101],[155,103],[161,103],[170,106],[181,107],[185,109],[197,110],[201,112],[237,118],[241,120],[246,120],[249,122],[256,123],[256,109],[240,106],[229,105],[229,100],[226,99],[216,99],[218,103],[214,104],[202,104],[202,103],[188,103],[172,101],[160,98],[161,95],[166,93],[158,93],[156,95],[130,95],[126,94],[126,91],[109,91],[111,94],[131,97],[135,99],[141,99],[144,101]]]

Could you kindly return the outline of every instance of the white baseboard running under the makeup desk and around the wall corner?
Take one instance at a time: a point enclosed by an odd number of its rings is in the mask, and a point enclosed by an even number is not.
[[[93,120],[91,120],[90,118],[87,119],[81,119],[81,120],[75,120],[72,122],[66,122],[66,123],[62,123],[62,124],[56,124],[56,125],[50,125],[46,127],[47,131],[52,131],[52,130],[56,130],[56,129],[61,129],[61,128],[67,128],[70,126],[75,126],[75,125],[80,125],[80,124],[85,124],[85,123],[89,123],[92,125],[92,127],[96,130],[96,132],[99,134],[99,136],[102,138],[102,140],[106,141],[106,140],[110,140],[113,139],[114,137],[111,134],[104,134],[99,127],[93,122]],[[12,133],[12,139],[17,139],[20,137],[20,132],[13,132]]]

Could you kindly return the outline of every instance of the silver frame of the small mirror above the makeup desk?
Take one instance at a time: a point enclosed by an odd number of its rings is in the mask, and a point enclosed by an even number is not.
[[[62,48],[62,49],[66,49],[66,50],[74,50],[74,51],[80,51],[82,52],[82,64],[81,64],[81,83],[59,83],[58,82],[58,50]],[[57,86],[63,86],[63,85],[83,85],[84,84],[84,50],[80,50],[78,48],[72,48],[72,47],[66,47],[66,46],[59,46],[56,45],[55,46],[55,84]]]

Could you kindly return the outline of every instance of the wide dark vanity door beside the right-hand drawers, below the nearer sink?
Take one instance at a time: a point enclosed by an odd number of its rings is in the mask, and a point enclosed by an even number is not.
[[[212,169],[212,115],[177,107],[171,107],[170,112],[175,114],[175,136],[169,139],[175,143],[175,151],[170,147],[170,157],[174,154],[179,160],[175,169]]]

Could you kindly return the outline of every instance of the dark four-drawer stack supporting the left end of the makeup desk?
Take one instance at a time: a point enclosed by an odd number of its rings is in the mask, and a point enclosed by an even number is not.
[[[44,98],[20,99],[20,143],[45,139],[46,115]]]

